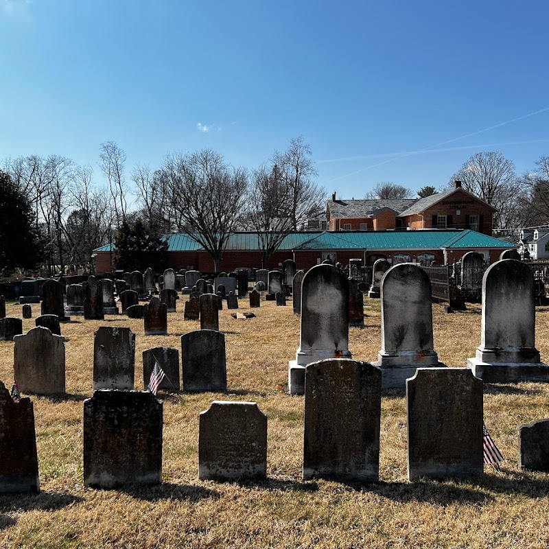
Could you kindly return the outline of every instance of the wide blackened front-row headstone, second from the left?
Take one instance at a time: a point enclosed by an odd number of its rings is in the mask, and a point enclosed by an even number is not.
[[[84,485],[162,480],[162,403],[148,391],[96,390],[84,400]]]

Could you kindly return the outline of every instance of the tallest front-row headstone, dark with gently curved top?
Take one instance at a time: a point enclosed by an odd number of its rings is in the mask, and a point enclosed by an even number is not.
[[[382,373],[368,362],[328,359],[305,373],[303,480],[377,482]]]

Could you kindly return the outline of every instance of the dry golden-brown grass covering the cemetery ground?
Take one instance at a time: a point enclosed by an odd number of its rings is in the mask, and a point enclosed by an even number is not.
[[[34,314],[38,306],[33,305]],[[246,309],[246,307],[244,307]],[[143,321],[107,317],[62,326],[68,338],[67,397],[32,397],[36,417],[40,495],[0,496],[0,547],[233,547],[263,548],[546,548],[549,482],[517,467],[519,425],[549,417],[549,386],[484,388],[484,417],[506,462],[466,481],[406,481],[404,391],[382,399],[380,482],[371,486],[301,481],[303,397],[277,390],[299,343],[299,318],[288,307],[262,302],[257,318],[220,312],[226,334],[226,394],[162,395],[163,484],[116,491],[82,485],[82,399],[91,396],[93,331],[129,326],[137,334],[136,385],[143,386],[141,352],[180,348],[180,335],[199,328],[183,321],[183,300],[169,315],[166,337],[143,335]],[[366,327],[351,328],[358,360],[379,349],[379,301],[366,299]],[[510,312],[513,314],[513,312]],[[8,305],[8,316],[21,307]],[[435,348],[442,362],[465,366],[480,342],[480,307],[444,314],[433,305]],[[549,360],[549,308],[537,312],[537,347]],[[34,319],[23,320],[26,331]],[[0,342],[0,379],[13,376],[13,343]],[[268,480],[198,480],[198,414],[214,399],[257,401],[268,416]]]

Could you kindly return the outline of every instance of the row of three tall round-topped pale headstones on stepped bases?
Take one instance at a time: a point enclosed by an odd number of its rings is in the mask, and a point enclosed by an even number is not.
[[[467,360],[487,382],[549,381],[549,366],[535,348],[534,277],[515,259],[492,264],[482,281],[482,336]],[[387,270],[380,283],[382,345],[375,362],[383,386],[404,387],[417,368],[442,367],[434,351],[431,283],[415,264]],[[305,366],[325,358],[352,358],[349,351],[349,281],[337,268],[318,265],[301,283],[301,334],[288,364],[292,394],[305,390]]]

